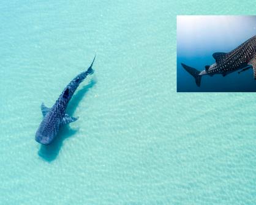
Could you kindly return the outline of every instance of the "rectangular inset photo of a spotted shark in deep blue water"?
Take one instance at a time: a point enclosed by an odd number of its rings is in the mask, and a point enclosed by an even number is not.
[[[177,92],[256,92],[256,16],[177,16]]]

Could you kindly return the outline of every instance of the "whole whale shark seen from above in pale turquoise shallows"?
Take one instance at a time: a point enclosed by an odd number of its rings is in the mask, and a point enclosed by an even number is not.
[[[53,107],[48,108],[42,103],[41,110],[43,114],[43,120],[36,132],[36,142],[39,142],[43,145],[50,144],[56,137],[59,128],[62,125],[72,123],[78,119],[67,115],[65,110],[67,108],[67,104],[69,104],[69,101],[73,96],[73,93],[75,90],[77,90],[78,85],[85,80],[88,74],[94,73],[94,70],[92,70],[92,65],[94,63],[95,57],[87,71],[78,74],[72,81],[69,82],[61,95],[59,95],[59,98],[56,100],[56,103],[53,105]]]

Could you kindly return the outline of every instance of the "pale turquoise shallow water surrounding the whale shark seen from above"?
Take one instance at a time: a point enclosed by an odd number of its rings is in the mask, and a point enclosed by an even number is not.
[[[255,204],[256,95],[176,93],[176,15],[255,8],[204,2],[2,1],[0,204]],[[95,53],[42,147],[40,104]]]

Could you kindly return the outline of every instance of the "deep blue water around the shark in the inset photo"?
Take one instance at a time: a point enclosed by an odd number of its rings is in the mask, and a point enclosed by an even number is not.
[[[181,63],[205,70],[215,63],[214,52],[230,52],[256,35],[256,16],[177,16],[177,91],[178,92],[255,92],[252,68],[214,76],[202,76],[201,86]]]

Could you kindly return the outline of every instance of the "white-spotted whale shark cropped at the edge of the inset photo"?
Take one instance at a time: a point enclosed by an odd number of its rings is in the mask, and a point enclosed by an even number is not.
[[[206,65],[203,71],[181,63],[183,68],[195,78],[198,87],[201,84],[201,76],[222,74],[225,77],[234,71],[241,70],[238,72],[241,73],[249,68],[253,68],[256,79],[256,35],[230,52],[215,52],[213,57],[216,62],[213,65]]]

